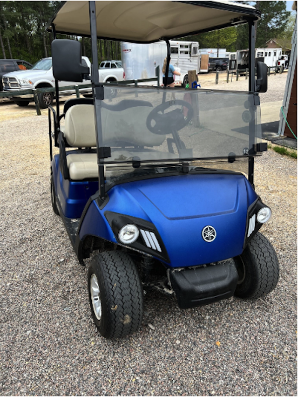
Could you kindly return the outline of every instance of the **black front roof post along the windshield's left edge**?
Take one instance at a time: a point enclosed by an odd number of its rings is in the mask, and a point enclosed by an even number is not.
[[[103,89],[103,84],[99,83],[99,75],[98,75],[95,1],[89,1],[89,14],[90,14],[91,53],[92,53],[91,83],[92,83],[92,93],[94,98],[96,152],[97,152],[98,174],[99,174],[99,198],[100,200],[104,200],[106,194],[105,194],[105,186],[104,186],[104,157],[102,157],[103,139],[102,139],[102,127],[101,127],[101,101],[104,99],[104,89]]]

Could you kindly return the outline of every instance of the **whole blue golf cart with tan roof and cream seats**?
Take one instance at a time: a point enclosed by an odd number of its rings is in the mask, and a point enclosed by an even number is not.
[[[267,149],[258,96],[267,89],[266,66],[258,65],[256,80],[250,73],[247,92],[121,86],[115,96],[98,82],[96,39],[163,38],[169,48],[171,38],[248,22],[254,54],[258,17],[253,7],[228,1],[71,1],[51,21],[54,37],[91,36],[93,98],[70,99],[61,116],[58,106],[49,111],[51,193],[79,262],[96,253],[89,298],[105,337],[139,328],[143,287],[174,293],[181,308],[234,294],[256,298],[275,287],[278,263],[266,243],[274,279],[257,288],[248,280],[249,263],[258,262],[250,246],[261,244],[258,230],[271,214],[253,186],[254,157]],[[88,74],[78,42],[54,40],[52,55],[56,80]],[[131,304],[121,312],[121,292],[117,298],[107,273],[120,283],[132,274],[120,290],[138,310]]]

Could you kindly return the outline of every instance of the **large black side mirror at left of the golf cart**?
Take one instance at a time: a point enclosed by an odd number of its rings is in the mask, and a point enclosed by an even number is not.
[[[81,45],[75,40],[52,41],[53,75],[57,80],[82,82],[84,74],[90,74],[88,66],[82,66]]]

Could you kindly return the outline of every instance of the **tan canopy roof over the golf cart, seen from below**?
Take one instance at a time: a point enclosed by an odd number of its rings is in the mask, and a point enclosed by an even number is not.
[[[97,37],[149,43],[258,19],[250,5],[231,1],[96,1]],[[66,1],[48,24],[57,33],[90,35],[88,1]]]

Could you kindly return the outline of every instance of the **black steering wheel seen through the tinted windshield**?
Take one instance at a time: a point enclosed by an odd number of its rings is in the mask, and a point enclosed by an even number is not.
[[[161,113],[171,106],[184,106],[187,108],[187,116],[184,117],[183,113],[179,109],[174,109],[167,113]],[[182,100],[167,101],[156,106],[148,115],[146,126],[149,131],[158,135],[165,135],[174,131],[179,131],[191,121],[194,114],[194,110],[189,102]],[[152,120],[155,121],[155,125],[152,126]]]

